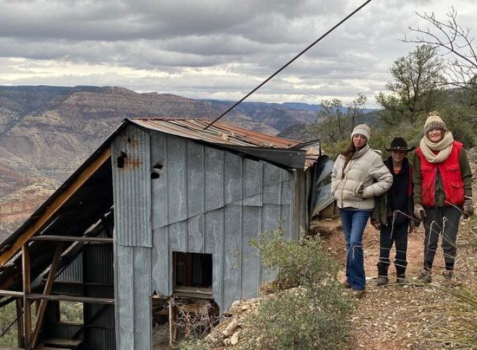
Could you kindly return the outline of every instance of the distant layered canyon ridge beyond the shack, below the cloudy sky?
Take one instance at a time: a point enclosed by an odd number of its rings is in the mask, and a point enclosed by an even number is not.
[[[213,119],[230,104],[118,86],[2,85],[0,204],[33,183],[65,180],[124,118]],[[315,116],[307,104],[246,102],[223,121],[278,134]]]

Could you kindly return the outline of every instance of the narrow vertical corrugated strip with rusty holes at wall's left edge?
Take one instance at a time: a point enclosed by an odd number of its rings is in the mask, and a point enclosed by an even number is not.
[[[149,133],[126,127],[113,141],[112,167],[116,345],[117,349],[151,349]]]

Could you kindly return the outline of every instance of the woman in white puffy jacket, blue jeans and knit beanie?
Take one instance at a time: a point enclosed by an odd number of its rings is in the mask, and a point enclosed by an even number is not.
[[[385,193],[393,183],[393,176],[381,155],[370,148],[369,140],[368,125],[356,125],[331,174],[331,192],[340,208],[347,248],[343,284],[358,298],[365,293],[363,231],[375,207],[375,196]]]

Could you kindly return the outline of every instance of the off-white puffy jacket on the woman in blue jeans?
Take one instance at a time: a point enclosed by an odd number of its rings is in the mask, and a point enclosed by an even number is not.
[[[393,176],[381,155],[368,144],[354,153],[344,170],[343,165],[344,156],[340,155],[331,174],[331,193],[340,208],[373,209],[374,197],[385,193],[393,184]]]

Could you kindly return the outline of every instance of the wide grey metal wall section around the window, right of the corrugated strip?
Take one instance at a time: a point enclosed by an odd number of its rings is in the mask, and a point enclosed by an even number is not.
[[[172,292],[172,252],[213,255],[213,293],[222,310],[256,297],[274,274],[248,241],[283,220],[290,238],[295,176],[266,162],[242,158],[160,132],[151,134],[152,289]]]

